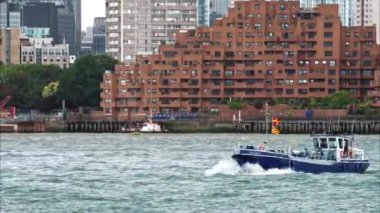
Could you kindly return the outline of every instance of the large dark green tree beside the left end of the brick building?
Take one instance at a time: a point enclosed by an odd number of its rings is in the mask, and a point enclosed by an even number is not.
[[[77,59],[60,78],[59,99],[65,99],[69,107],[99,107],[104,71],[113,70],[117,63],[107,55],[88,55]]]

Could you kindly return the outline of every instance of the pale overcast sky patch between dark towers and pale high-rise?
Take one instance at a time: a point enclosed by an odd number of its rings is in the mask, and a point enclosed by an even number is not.
[[[82,0],[82,30],[91,27],[95,17],[105,17],[105,0]]]

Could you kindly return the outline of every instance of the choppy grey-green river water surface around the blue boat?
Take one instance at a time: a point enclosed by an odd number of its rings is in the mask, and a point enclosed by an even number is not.
[[[380,136],[365,174],[241,169],[254,134],[2,134],[2,212],[380,212]],[[282,148],[307,135],[271,136]]]

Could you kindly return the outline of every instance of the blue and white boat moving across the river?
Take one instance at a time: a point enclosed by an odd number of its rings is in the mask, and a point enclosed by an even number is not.
[[[364,151],[353,146],[354,137],[347,135],[312,135],[313,148],[308,151],[271,150],[267,142],[258,148],[240,146],[232,158],[239,165],[259,164],[263,169],[292,169],[297,172],[364,173],[370,162]]]

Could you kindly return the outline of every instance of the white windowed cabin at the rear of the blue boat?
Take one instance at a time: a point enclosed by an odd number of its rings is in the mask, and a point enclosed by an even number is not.
[[[362,159],[364,152],[354,148],[353,138],[336,135],[317,135],[313,137],[313,152],[310,156],[321,160]]]

